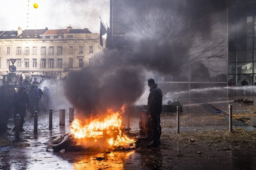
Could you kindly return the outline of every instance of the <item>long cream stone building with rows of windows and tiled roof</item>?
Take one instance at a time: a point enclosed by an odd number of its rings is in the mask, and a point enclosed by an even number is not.
[[[93,55],[102,49],[100,35],[88,28],[22,30],[19,27],[17,31],[0,31],[0,75],[9,72],[10,59],[17,59],[16,74],[60,79],[70,71],[92,65]]]

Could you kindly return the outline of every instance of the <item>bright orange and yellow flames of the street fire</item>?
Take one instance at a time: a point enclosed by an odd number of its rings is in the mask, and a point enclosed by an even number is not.
[[[124,113],[124,107],[122,112]],[[97,142],[98,136],[106,137],[106,141],[110,147],[128,148],[135,147],[135,140],[128,138],[122,128],[121,113],[108,110],[108,114],[103,120],[99,118],[87,119],[84,123],[75,119],[70,127],[70,133],[76,139],[95,138],[94,143]]]

